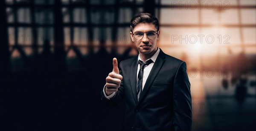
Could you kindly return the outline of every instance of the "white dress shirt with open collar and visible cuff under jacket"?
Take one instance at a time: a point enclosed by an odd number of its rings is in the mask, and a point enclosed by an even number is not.
[[[145,85],[145,83],[146,83],[146,81],[147,81],[147,79],[148,79],[148,75],[149,75],[151,69],[153,68],[154,63],[155,63],[155,61],[157,60],[157,56],[158,56],[159,52],[160,52],[160,49],[157,48],[157,52],[156,52],[154,55],[152,55],[152,57],[150,57],[150,58],[148,59],[148,60],[151,59],[153,62],[150,63],[149,65],[145,65],[145,67],[144,67],[143,79],[142,79],[142,90],[143,90],[144,85]],[[139,71],[140,71],[139,60],[143,61],[143,60],[140,58],[140,54],[138,55],[138,61],[137,61],[137,66],[138,66],[138,68],[137,68],[137,78],[138,78],[138,74],[139,74]],[[146,61],[148,61],[148,60],[146,60]],[[145,61],[145,62],[146,62],[146,61]],[[143,62],[144,62],[144,61],[143,61]],[[145,62],[144,62],[144,63],[145,63]],[[138,82],[138,79],[137,79],[137,82]],[[106,85],[105,85],[105,86],[106,86]],[[106,98],[108,98],[108,99],[114,97],[115,94],[116,94],[116,92],[113,92],[113,93],[112,93],[111,95],[109,95],[109,96],[107,96],[107,95],[105,94],[105,86],[104,86],[104,88],[103,88],[103,94],[104,94],[104,96],[105,96]]]

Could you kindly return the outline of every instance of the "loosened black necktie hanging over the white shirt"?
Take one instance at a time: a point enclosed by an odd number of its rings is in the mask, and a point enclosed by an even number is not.
[[[140,99],[140,94],[141,94],[141,91],[142,91],[142,80],[143,80],[144,67],[145,67],[145,65],[149,65],[152,62],[153,61],[151,59],[148,60],[146,63],[143,63],[143,61],[139,60],[140,71],[139,71],[139,74],[138,74],[138,82],[137,82],[137,97],[138,97],[138,101]]]

